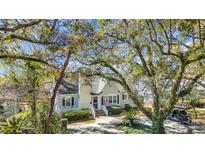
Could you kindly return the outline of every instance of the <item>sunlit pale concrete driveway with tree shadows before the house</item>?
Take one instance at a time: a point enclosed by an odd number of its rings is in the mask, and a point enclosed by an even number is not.
[[[116,129],[116,124],[122,122],[122,117],[100,116],[96,120],[68,125],[71,134],[123,134],[123,131]],[[138,122],[151,126],[152,122],[141,117]],[[205,126],[202,125],[183,125],[178,122],[166,120],[164,123],[167,134],[205,134]]]

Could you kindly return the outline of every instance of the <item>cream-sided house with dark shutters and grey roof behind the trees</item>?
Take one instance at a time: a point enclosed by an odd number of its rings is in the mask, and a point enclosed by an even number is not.
[[[112,104],[121,107],[124,107],[125,104],[134,106],[120,85],[108,83],[101,78],[95,78],[90,83],[86,83],[79,77],[72,83],[66,80],[61,82],[54,110],[60,114],[90,108],[92,112],[101,110],[106,113],[105,107]]]

